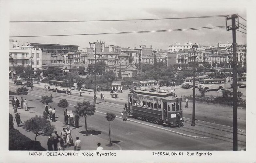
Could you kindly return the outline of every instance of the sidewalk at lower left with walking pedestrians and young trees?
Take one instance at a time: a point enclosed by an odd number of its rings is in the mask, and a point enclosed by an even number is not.
[[[24,109],[19,109],[18,112],[20,113],[21,116],[21,120],[24,123],[26,120],[28,120],[31,117],[34,117],[36,115],[42,115],[38,112],[34,112],[32,110],[29,111],[25,111]],[[11,113],[13,115],[13,117],[15,117],[14,115],[14,111],[12,110],[12,106],[9,105],[9,113]],[[56,121],[56,122],[52,122],[51,124],[54,125],[56,127],[56,131],[57,133],[60,135],[60,132],[63,128],[63,122],[60,121]],[[33,132],[26,132],[22,126],[17,127],[16,122],[14,122],[14,128],[19,130],[20,133],[24,134],[25,136],[27,136],[28,138],[30,138],[31,140],[35,140],[35,134]],[[69,127],[69,126],[65,126]],[[73,143],[76,141],[76,137],[79,137],[79,140],[82,141],[82,146],[81,146],[81,150],[96,150],[97,148],[97,143],[101,143],[101,146],[103,147],[104,150],[121,150],[121,147],[117,144],[112,144],[111,147],[109,147],[109,141],[108,140],[104,140],[102,138],[99,138],[95,135],[88,135],[85,136],[85,134],[83,134],[83,132],[81,133],[81,130],[79,128],[75,128],[71,126],[71,135],[73,138]],[[48,136],[38,136],[37,137],[37,141],[39,141],[41,143],[41,146],[43,148],[45,148],[46,150],[48,150],[47,147],[47,141],[48,141]],[[58,143],[59,146],[59,143]],[[65,150],[74,150],[74,146],[70,146],[70,147],[66,147]]]

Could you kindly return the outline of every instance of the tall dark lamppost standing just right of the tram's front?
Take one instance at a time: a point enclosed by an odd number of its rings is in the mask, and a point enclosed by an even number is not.
[[[192,45],[193,52],[194,52],[194,69],[193,69],[193,110],[192,110],[192,123],[191,126],[196,126],[195,122],[195,110],[196,110],[196,51],[197,51],[197,44]]]

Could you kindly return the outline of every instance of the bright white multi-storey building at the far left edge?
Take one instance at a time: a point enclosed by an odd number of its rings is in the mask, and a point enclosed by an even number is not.
[[[12,56],[16,66],[28,66],[31,65],[32,69],[42,69],[42,50],[38,50],[32,46],[16,47],[9,50],[9,56]]]

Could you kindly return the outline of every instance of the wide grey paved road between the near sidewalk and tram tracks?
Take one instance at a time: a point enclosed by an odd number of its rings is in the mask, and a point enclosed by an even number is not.
[[[19,86],[10,84],[10,90],[14,91]],[[63,95],[61,93],[44,91],[42,89],[35,89],[29,91],[27,98],[29,101],[29,107],[37,106],[31,108],[30,111],[35,111],[42,114],[44,104],[40,103],[41,95],[53,96]],[[85,93],[83,94],[85,95]],[[60,121],[63,121],[62,109],[57,107],[57,102],[61,98],[66,98],[71,106],[68,110],[74,110],[72,105],[76,105],[76,102],[80,102],[81,99],[92,100],[91,95],[88,97],[79,97],[78,95],[72,96],[60,96],[54,98],[54,103],[50,106],[57,109],[57,116]],[[116,106],[115,106],[116,105]],[[120,116],[121,108],[119,104],[113,104],[108,102],[103,102],[97,104],[97,111],[95,115],[88,117],[88,129],[92,134],[95,134],[103,139],[108,139],[108,122],[105,120],[105,115],[103,113],[107,111],[113,111],[117,116]],[[119,110],[120,109],[120,110]],[[101,113],[103,112],[103,113]],[[184,112],[186,112],[184,110]],[[221,114],[221,113],[220,113]],[[84,124],[84,118],[80,118],[81,123]],[[142,121],[143,122],[143,121]],[[143,122],[144,123],[144,122]],[[147,124],[147,123],[144,123]],[[159,126],[159,125],[158,125]],[[160,126],[162,127],[162,126]],[[111,133],[112,141],[117,142],[122,146],[123,150],[231,150],[232,143],[227,141],[222,141],[218,139],[193,139],[190,137],[185,137],[181,135],[174,134],[168,130],[163,130],[161,128],[156,128],[153,126],[143,125],[141,123],[135,123],[133,121],[122,121],[120,118],[116,118],[114,122],[111,123]],[[177,129],[176,129],[177,130]]]

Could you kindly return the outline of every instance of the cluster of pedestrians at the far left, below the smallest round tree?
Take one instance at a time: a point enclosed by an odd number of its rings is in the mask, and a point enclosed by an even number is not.
[[[21,106],[20,106],[20,104],[21,104]],[[17,127],[19,127],[22,124],[22,121],[21,121],[20,114],[18,113],[18,109],[25,108],[25,111],[27,111],[28,110],[27,109],[27,100],[26,99],[23,100],[23,97],[21,97],[21,100],[19,100],[17,97],[15,99],[12,98],[11,105],[12,105],[12,109],[14,110],[14,113],[15,113],[14,121],[16,120]]]

